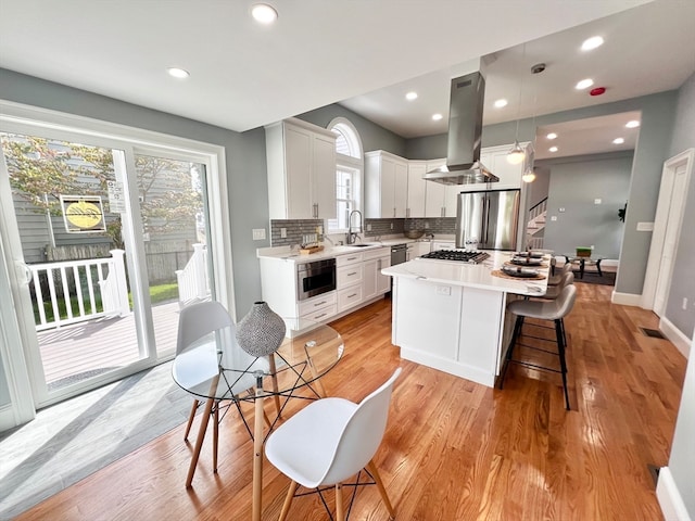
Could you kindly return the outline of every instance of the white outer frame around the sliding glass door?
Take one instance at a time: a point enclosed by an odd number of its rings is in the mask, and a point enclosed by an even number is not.
[[[206,189],[208,194],[208,219],[211,227],[210,241],[212,245],[212,264],[215,272],[213,291],[215,300],[222,302],[229,309],[230,314],[236,316],[231,255],[228,253],[231,252],[231,226],[227,200],[228,192],[226,186],[227,175],[225,169],[226,158],[224,147],[0,100],[0,127],[5,129],[5,127],[16,128],[22,126],[40,128],[43,130],[41,134],[75,134],[92,138],[90,140],[97,138],[97,140],[104,139],[126,142],[129,143],[129,147],[134,148],[170,150],[172,153],[178,152],[186,154],[205,164],[208,169]],[[7,175],[2,177],[7,178]],[[9,190],[4,190],[3,192],[9,193]],[[7,207],[12,208],[13,204],[11,203],[12,201],[10,201]],[[3,201],[2,204],[3,207],[5,207],[5,201]],[[16,230],[16,221],[14,223],[14,228],[11,227],[12,223],[10,220],[14,218],[14,215],[10,214],[12,214],[12,212],[0,212],[0,228],[2,228],[3,231],[2,251],[4,255],[2,259],[3,263],[0,263],[0,268],[4,268],[8,274],[10,288],[7,288],[7,290],[11,293],[7,294],[2,284],[0,284],[0,298],[2,298],[1,302],[5,303],[13,302],[9,298],[14,298],[14,303],[18,309],[21,308],[23,295],[26,294],[28,297],[28,291],[22,291],[21,284],[24,283],[25,274],[23,269],[15,266],[14,262],[16,258],[22,258],[21,244],[18,243],[18,239],[13,239],[12,236],[15,233],[5,233],[5,231],[12,229]],[[17,244],[14,244],[14,242],[17,242]],[[16,247],[18,247],[18,251],[16,251]],[[2,266],[2,264],[4,264],[4,266]],[[0,276],[2,276],[2,272],[0,272]],[[20,301],[17,301],[17,298]],[[30,307],[30,305],[28,307]],[[5,307],[3,305],[3,312],[4,310]],[[10,307],[10,310],[14,314],[12,307]],[[23,323],[24,321],[27,321],[27,323]],[[28,323],[28,319],[16,320],[16,322],[18,322],[20,342],[10,343],[9,339],[2,339],[0,341],[0,350],[2,350],[0,351],[0,355],[2,355],[2,360],[0,361],[4,364],[4,371],[9,374],[8,379],[20,383],[30,382],[31,379],[27,373],[27,360],[25,357],[30,356],[30,339],[33,334],[35,336],[35,331],[31,333],[26,330],[26,328],[35,328],[35,326]],[[10,351],[12,353],[8,353]],[[22,356],[20,356],[20,354]],[[0,372],[2,372],[2,367],[0,367]],[[26,404],[22,404],[21,401],[15,399],[17,396],[25,396],[30,401],[31,410],[29,417],[27,417],[28,408],[25,407]],[[29,385],[28,392],[27,389],[23,387],[21,393],[15,393],[15,396],[11,398],[12,410],[10,412],[15,418],[20,418],[22,420],[20,422],[30,419],[34,415],[33,407],[37,405],[37,398],[40,401],[40,398],[31,392],[31,385]],[[50,405],[50,402],[43,402],[41,405]],[[0,410],[0,412],[2,412],[2,410]]]

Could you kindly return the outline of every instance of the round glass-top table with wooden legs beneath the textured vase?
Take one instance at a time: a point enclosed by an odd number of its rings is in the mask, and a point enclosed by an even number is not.
[[[273,355],[256,357],[244,352],[237,343],[236,327],[231,326],[214,331],[185,347],[176,355],[172,366],[174,381],[197,398],[205,401],[186,481],[187,487],[191,486],[193,480],[210,416],[219,402],[254,402],[254,428],[251,433],[254,441],[254,521],[261,519],[262,507],[265,398],[271,397],[275,401],[277,421],[287,401],[299,397],[300,390],[307,390],[313,395],[309,399],[324,397],[326,393],[319,379],[340,361],[344,351],[342,338],[331,327],[299,318],[283,320],[287,326],[286,338]],[[254,392],[239,395],[249,389]],[[270,429],[275,421],[270,423]],[[216,423],[214,427],[217,429]]]

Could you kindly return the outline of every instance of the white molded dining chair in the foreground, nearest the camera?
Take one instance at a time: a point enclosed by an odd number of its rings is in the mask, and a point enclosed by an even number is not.
[[[372,458],[386,431],[393,383],[400,373],[397,368],[359,404],[338,397],[313,402],[270,434],[266,457],[292,480],[280,521],[287,518],[299,485],[319,494],[334,486],[336,519],[344,521],[342,487],[363,469],[374,479],[391,519],[395,517]]]

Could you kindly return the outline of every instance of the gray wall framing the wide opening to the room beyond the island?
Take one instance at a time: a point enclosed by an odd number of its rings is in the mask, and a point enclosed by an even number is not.
[[[626,233],[620,253],[620,271],[616,281],[616,291],[620,293],[642,294],[652,233],[636,231],[636,225],[641,221],[653,221],[656,214],[661,167],[664,161],[669,157],[677,100],[678,91],[668,91],[615,103],[545,114],[536,116],[535,122],[532,118],[519,122],[519,141],[532,141],[535,137],[536,126],[630,111],[642,112],[642,126],[634,152],[628,196],[630,204],[628,205]],[[493,147],[511,143],[515,135],[516,122],[489,125],[483,127],[482,145]],[[431,156],[441,156],[442,150],[446,150],[445,142],[446,135],[410,139],[406,142],[406,157],[410,157],[409,154],[429,155],[426,149],[431,151]],[[679,282],[675,279],[673,281],[674,284]]]

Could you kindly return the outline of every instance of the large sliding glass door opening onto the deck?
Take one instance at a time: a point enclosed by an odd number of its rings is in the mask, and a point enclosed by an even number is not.
[[[4,262],[35,406],[172,356],[180,306],[215,288],[204,158],[23,124],[0,138]]]

